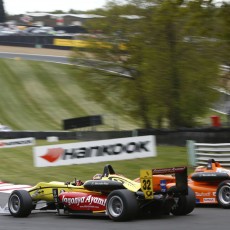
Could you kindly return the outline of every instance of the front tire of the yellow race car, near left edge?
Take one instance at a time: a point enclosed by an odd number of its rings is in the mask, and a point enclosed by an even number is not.
[[[33,204],[30,194],[25,190],[15,190],[8,200],[8,208],[14,217],[27,217],[30,215]]]

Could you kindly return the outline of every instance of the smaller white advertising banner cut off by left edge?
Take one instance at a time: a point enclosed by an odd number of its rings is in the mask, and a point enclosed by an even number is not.
[[[35,139],[33,137],[18,138],[18,139],[7,139],[0,140],[0,148],[13,148],[26,145],[35,145]]]

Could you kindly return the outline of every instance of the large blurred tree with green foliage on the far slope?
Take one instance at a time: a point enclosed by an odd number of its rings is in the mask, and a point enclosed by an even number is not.
[[[217,26],[217,8],[205,0],[128,2],[108,4],[106,19],[88,24],[103,32],[100,41],[113,44],[111,49],[92,49],[95,57],[132,75],[134,80],[120,88],[123,104],[144,127],[195,126],[217,99],[212,88],[219,85],[223,54],[215,38],[224,29]],[[141,17],[120,17],[127,12]],[[119,50],[122,42],[125,52]]]

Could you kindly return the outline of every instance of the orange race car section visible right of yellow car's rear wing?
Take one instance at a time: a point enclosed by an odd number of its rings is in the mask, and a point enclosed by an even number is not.
[[[198,166],[188,177],[188,186],[195,192],[197,204],[218,204],[230,208],[230,170],[214,159]]]

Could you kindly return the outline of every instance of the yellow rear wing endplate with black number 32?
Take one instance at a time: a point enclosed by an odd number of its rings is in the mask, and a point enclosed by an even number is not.
[[[145,199],[153,199],[152,170],[140,170],[141,189]]]

